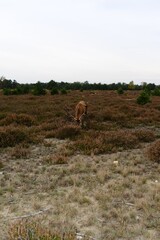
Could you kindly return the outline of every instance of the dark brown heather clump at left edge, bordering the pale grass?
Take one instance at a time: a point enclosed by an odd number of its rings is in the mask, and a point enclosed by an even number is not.
[[[0,129],[0,147],[13,147],[24,141],[30,141],[25,130],[20,128]]]

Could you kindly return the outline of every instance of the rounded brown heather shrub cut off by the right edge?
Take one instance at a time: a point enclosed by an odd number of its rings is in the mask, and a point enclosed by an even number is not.
[[[146,150],[149,160],[160,163],[160,140],[152,143]]]

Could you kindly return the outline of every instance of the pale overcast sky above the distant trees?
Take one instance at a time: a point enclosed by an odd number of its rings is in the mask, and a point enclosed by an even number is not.
[[[160,84],[159,0],[0,0],[0,76]]]

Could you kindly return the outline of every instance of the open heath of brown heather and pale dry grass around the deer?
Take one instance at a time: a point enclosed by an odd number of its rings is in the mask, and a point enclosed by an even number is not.
[[[96,240],[160,239],[160,97],[141,106],[138,94],[0,95],[0,239],[22,219]],[[80,100],[87,129],[65,112]]]

